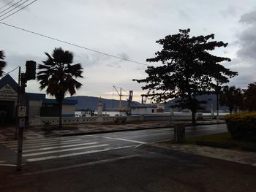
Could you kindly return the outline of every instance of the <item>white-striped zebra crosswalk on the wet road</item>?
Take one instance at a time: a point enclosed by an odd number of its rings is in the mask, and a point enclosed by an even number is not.
[[[17,153],[17,141],[0,142],[0,144]],[[23,141],[23,162],[65,158],[125,147],[130,146],[111,146],[110,143],[84,137],[25,140]]]

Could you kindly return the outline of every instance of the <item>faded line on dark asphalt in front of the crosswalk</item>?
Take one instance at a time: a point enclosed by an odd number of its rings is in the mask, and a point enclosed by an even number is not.
[[[66,169],[74,169],[74,168],[78,168],[81,166],[92,166],[92,165],[96,165],[96,164],[105,164],[105,163],[110,163],[110,162],[114,162],[114,161],[119,161],[119,160],[124,160],[127,158],[135,158],[135,157],[139,157],[141,156],[140,154],[135,154],[135,155],[127,155],[127,156],[121,156],[118,158],[108,158],[108,159],[103,159],[103,160],[99,160],[99,161],[92,161],[92,162],[87,162],[84,164],[76,164],[76,165],[72,165],[72,166],[63,166],[63,167],[59,167],[59,168],[53,168],[53,169],[47,169],[47,170],[42,170],[42,171],[38,171],[38,172],[30,172],[30,173],[24,173],[22,174],[23,176],[29,176],[29,175],[34,175],[34,174],[44,174],[44,173],[49,173],[49,172],[57,172],[57,171],[63,171]],[[15,176],[13,176],[15,177]]]

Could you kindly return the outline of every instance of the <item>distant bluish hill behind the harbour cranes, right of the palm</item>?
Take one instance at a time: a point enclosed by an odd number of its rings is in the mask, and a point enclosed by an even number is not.
[[[78,100],[78,104],[75,105],[75,110],[97,110],[97,105],[99,103],[99,97],[95,96],[71,96],[67,99]],[[103,99],[102,103],[104,110],[118,110],[119,101],[115,99]],[[133,105],[139,104],[138,102],[133,101]],[[127,107],[127,101],[122,101],[123,109]]]

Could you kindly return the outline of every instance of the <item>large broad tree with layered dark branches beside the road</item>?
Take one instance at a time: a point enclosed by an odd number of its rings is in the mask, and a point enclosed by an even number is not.
[[[227,43],[210,41],[214,34],[189,37],[190,29],[179,30],[178,34],[159,39],[162,50],[155,53],[155,58],[148,62],[162,62],[161,66],[148,66],[148,77],[135,80],[144,83],[143,90],[151,91],[156,101],[180,98],[177,107],[192,111],[192,122],[195,123],[195,112],[200,107],[198,95],[211,93],[217,86],[228,82],[236,76],[222,66],[230,58],[211,55],[216,47],[227,47]]]

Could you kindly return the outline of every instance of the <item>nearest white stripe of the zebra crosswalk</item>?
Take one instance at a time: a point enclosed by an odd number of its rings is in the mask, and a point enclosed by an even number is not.
[[[119,150],[119,149],[124,149],[124,148],[129,148],[133,146],[124,146],[124,147],[108,147],[102,150],[89,150],[85,152],[80,152],[80,153],[69,153],[69,154],[64,154],[64,155],[55,155],[55,156],[45,156],[41,158],[29,158],[26,159],[27,162],[34,162],[34,161],[43,161],[43,160],[48,160],[48,159],[53,159],[53,158],[65,158],[65,157],[70,157],[70,156],[76,156],[76,155],[85,155],[89,153],[99,153],[99,152],[104,152],[104,151],[109,151],[109,150]]]

